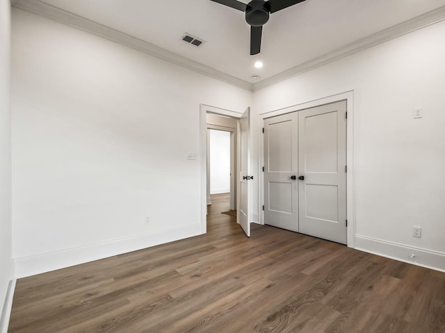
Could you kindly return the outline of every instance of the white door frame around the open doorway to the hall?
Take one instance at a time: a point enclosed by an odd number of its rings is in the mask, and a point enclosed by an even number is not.
[[[243,112],[236,112],[217,108],[215,106],[200,104],[200,157],[201,157],[201,233],[207,232],[207,112],[219,114],[221,116],[233,117],[240,119]],[[239,128],[239,126],[238,126]],[[236,135],[238,140],[238,133]],[[236,154],[238,154],[238,150]],[[236,159],[235,176],[239,173],[239,158]],[[236,178],[237,179],[237,178]],[[236,180],[235,180],[236,181]],[[238,186],[236,187],[238,191]],[[236,194],[237,200],[239,194]]]

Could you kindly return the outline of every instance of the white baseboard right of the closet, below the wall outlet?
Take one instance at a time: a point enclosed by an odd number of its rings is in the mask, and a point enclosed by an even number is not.
[[[417,266],[431,268],[445,272],[445,253],[414,248],[403,244],[392,243],[357,234],[355,236],[355,248],[365,252],[381,255],[400,262],[407,262]],[[414,255],[414,257],[411,257]]]

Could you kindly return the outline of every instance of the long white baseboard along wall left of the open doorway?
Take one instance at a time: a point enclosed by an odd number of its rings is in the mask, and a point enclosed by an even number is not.
[[[122,239],[113,239],[91,246],[81,246],[52,253],[15,258],[15,276],[24,278],[56,269],[84,264],[97,259],[121,255],[201,234],[201,223],[181,225]]]

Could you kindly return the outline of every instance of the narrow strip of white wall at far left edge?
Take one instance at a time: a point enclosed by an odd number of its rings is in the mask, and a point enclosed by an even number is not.
[[[0,314],[13,275],[11,243],[10,1],[0,0]]]

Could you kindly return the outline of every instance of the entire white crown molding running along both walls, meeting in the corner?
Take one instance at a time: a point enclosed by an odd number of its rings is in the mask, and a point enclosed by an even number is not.
[[[431,24],[441,22],[445,19],[445,6],[442,6],[430,12],[426,12],[423,15],[402,22],[401,24],[397,24],[396,26],[392,26],[391,28],[387,28],[373,35],[369,35],[368,37],[364,37],[361,40],[357,40],[353,43],[347,44],[346,46],[342,46],[341,48],[326,53],[323,56],[304,62],[301,65],[292,67],[286,71],[282,71],[279,74],[265,78],[264,80],[252,85],[252,83],[235,78],[234,76],[225,74],[222,71],[202,65],[199,62],[179,56],[176,53],[161,49],[159,46],[150,44],[125,33],[121,33],[113,28],[108,28],[108,26],[98,24],[89,19],[80,17],[79,15],[75,15],[72,12],[67,12],[66,10],[56,8],[42,1],[11,0],[11,3],[14,7],[22,10],[33,12],[34,14],[47,17],[48,19],[52,19],[56,22],[67,24],[68,26],[73,26],[74,28],[78,28],[82,31],[92,33],[93,35],[97,35],[124,46],[129,46],[132,49],[136,49],[143,53],[147,53],[150,56],[161,58],[162,60],[171,62],[175,65],[190,69],[191,71],[196,71],[197,73],[210,76],[211,78],[216,78],[225,83],[229,83],[231,85],[235,85],[236,87],[241,87],[253,92],[269,87],[270,85],[275,85],[275,83],[292,78],[293,76],[298,76],[306,71],[327,65],[330,62],[345,58],[359,51],[369,49],[372,46],[382,44],[396,37],[400,37],[407,33],[425,28],[426,26],[430,26]]]

